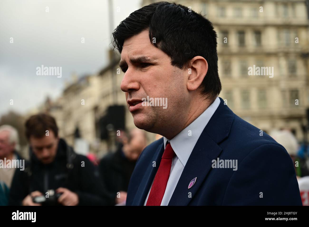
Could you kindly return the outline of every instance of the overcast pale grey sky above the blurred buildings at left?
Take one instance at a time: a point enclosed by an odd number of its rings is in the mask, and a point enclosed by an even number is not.
[[[113,0],[114,27],[140,4]],[[72,72],[98,72],[108,63],[110,43],[107,0],[1,0],[0,115],[26,113],[46,96],[59,96]],[[41,65],[62,67],[62,77],[36,75]]]

